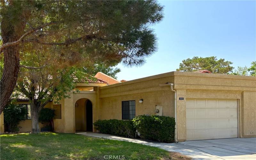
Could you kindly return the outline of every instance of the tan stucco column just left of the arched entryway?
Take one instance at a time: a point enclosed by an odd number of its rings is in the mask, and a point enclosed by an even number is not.
[[[73,93],[68,93],[70,98],[64,99],[64,112],[65,112],[65,133],[75,133],[75,102],[73,100]]]

